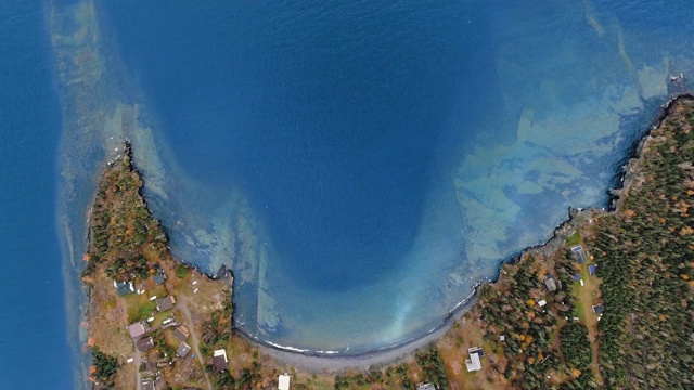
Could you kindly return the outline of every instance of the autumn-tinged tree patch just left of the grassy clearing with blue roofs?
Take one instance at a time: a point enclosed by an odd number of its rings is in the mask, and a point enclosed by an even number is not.
[[[590,343],[570,330],[582,325],[564,325],[576,310],[567,289],[576,272],[574,262],[568,250],[564,249],[542,261],[527,256],[517,264],[503,268],[501,284],[485,285],[479,291],[480,325],[485,339],[492,346],[490,352],[503,354],[506,361],[505,365],[490,363],[491,369],[503,374],[514,388],[555,388],[557,378],[566,377],[570,382],[575,380],[574,373],[578,377],[590,364]],[[543,280],[548,277],[544,273],[548,270],[564,288],[552,294],[547,290]],[[544,306],[539,304],[541,300]],[[564,330],[566,328],[569,330]],[[571,340],[561,342],[561,350],[555,342],[560,329],[562,334],[568,334],[562,341]],[[503,341],[501,336],[504,336]],[[588,364],[582,358],[584,348],[589,350]],[[581,358],[577,358],[579,349]],[[579,370],[573,372],[573,368]],[[583,388],[594,387],[589,370],[581,380],[588,385]]]

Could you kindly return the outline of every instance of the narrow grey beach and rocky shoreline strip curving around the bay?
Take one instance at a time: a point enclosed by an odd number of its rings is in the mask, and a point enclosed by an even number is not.
[[[507,282],[506,277],[506,265],[515,266],[520,264],[524,259],[530,257],[526,255],[532,255],[535,258],[551,258],[563,247],[565,247],[566,239],[573,235],[575,232],[580,231],[587,227],[589,224],[593,222],[595,217],[600,217],[607,213],[618,212],[621,206],[621,202],[624,200],[622,195],[629,191],[629,187],[632,183],[639,178],[639,167],[638,162],[643,157],[643,152],[647,150],[650,142],[653,140],[651,136],[651,131],[656,129],[665,118],[670,114],[671,107],[682,99],[694,100],[694,96],[691,94],[679,94],[673,96],[668,101],[666,105],[663,106],[660,114],[657,119],[650,127],[648,132],[637,143],[633,148],[633,153],[628,157],[628,162],[624,166],[622,171],[618,174],[620,178],[621,187],[609,191],[611,199],[609,199],[609,209],[605,210],[596,210],[596,209],[576,209],[569,208],[568,218],[556,226],[553,231],[553,235],[549,238],[544,244],[532,246],[524,249],[517,256],[509,259],[509,261],[504,261],[500,263],[500,271],[497,277],[493,281],[480,281],[474,288],[473,294],[462,301],[461,304],[453,308],[450,313],[445,316],[441,323],[429,334],[424,337],[410,340],[406,343],[393,346],[390,348],[386,348],[383,350],[369,351],[364,353],[358,354],[343,354],[343,353],[320,353],[320,352],[298,352],[283,349],[278,346],[273,346],[262,340],[256,339],[243,332],[243,329],[234,326],[234,333],[236,336],[240,336],[243,342],[247,343],[250,348],[258,349],[261,353],[261,358],[264,362],[268,365],[268,367],[275,367],[272,369],[277,369],[277,367],[284,367],[292,370],[296,370],[297,373],[305,372],[310,375],[321,375],[323,377],[331,377],[336,374],[342,374],[345,372],[357,370],[357,372],[370,372],[373,369],[388,369],[388,367],[393,367],[396,364],[413,364],[414,356],[417,351],[425,350],[430,348],[430,346],[436,346],[444,338],[449,336],[452,332],[453,325],[458,327],[460,323],[465,323],[463,317],[466,317],[466,313],[473,312],[477,307],[477,302],[479,300],[479,291],[483,288],[487,288],[490,286],[491,289],[499,290],[503,283]],[[126,147],[124,155],[127,155],[130,158],[130,147],[126,142]],[[125,158],[125,157],[124,157]],[[113,162],[108,164],[108,168],[112,167]],[[137,174],[137,169],[133,168],[133,172]],[[140,194],[141,195],[141,194]],[[146,203],[143,205],[146,208]],[[92,231],[93,221],[88,220],[88,231]],[[158,229],[158,225],[157,225]],[[92,248],[95,243],[92,242],[92,236],[90,234],[86,237],[87,246]],[[154,240],[156,243],[156,240]],[[157,244],[158,245],[158,244]],[[162,247],[162,253],[166,253],[165,256],[169,257],[167,250]],[[164,255],[163,255],[164,256]],[[176,260],[178,263],[185,264],[179,260]],[[216,275],[209,275],[204,272],[200,272],[198,268],[194,265],[189,265],[190,269],[194,269],[195,273],[198,275],[204,275],[208,281],[217,281],[224,280],[230,289],[233,289],[233,274],[231,271],[227,270],[224,266],[220,268],[219,272]],[[227,276],[231,276],[228,278]],[[89,318],[92,316],[92,294],[93,286],[90,287],[89,284],[86,284],[86,292],[88,298],[88,307],[85,312],[83,324],[86,328],[89,330]],[[102,286],[103,287],[103,286]],[[103,294],[103,292],[102,292]],[[103,303],[103,297],[100,298]],[[123,313],[123,312],[121,312]],[[474,326],[474,325],[471,325]],[[237,342],[237,341],[234,341]],[[233,361],[233,356],[232,356]],[[270,368],[268,368],[270,369]],[[327,380],[327,379],[326,379]]]

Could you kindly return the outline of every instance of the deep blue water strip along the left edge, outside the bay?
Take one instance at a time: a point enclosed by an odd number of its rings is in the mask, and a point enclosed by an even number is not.
[[[70,389],[61,250],[55,230],[60,112],[43,9],[0,4],[0,381]]]

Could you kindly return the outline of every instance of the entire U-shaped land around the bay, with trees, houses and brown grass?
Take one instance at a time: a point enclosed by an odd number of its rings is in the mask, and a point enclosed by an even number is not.
[[[210,277],[171,257],[126,143],[90,214],[89,379],[99,389],[694,388],[693,130],[694,98],[673,99],[626,166],[613,210],[571,210],[436,342],[313,373],[236,334],[230,272]]]

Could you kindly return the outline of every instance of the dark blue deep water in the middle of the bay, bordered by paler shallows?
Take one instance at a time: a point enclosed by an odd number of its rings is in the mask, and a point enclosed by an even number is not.
[[[241,185],[292,259],[285,272],[321,290],[377,281],[414,239],[444,122],[454,106],[472,121],[483,103],[459,96],[491,52],[468,55],[487,32],[479,23],[479,37],[465,34],[463,12],[284,2],[110,15],[133,27],[118,31],[125,58],[156,112],[170,113],[163,127],[181,130],[168,139],[181,166]]]

